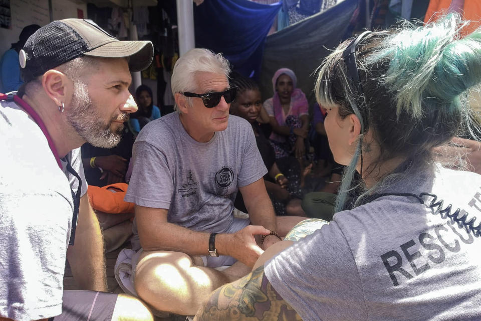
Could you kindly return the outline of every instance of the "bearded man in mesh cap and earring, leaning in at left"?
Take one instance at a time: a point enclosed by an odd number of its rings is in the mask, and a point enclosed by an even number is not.
[[[0,319],[152,320],[132,297],[63,291],[66,256],[93,275],[87,287],[106,288],[79,147],[119,142],[137,110],[130,71],[151,63],[152,43],[67,19],[40,28],[19,56],[25,84],[0,94]]]

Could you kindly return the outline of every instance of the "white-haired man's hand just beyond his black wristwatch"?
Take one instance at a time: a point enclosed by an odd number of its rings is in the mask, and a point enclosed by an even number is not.
[[[264,253],[264,250],[257,245],[254,235],[269,233],[271,231],[262,226],[249,225],[232,234],[219,234],[217,235],[219,241],[226,245],[224,249],[220,248],[219,252],[221,255],[230,255],[252,268],[259,256]]]

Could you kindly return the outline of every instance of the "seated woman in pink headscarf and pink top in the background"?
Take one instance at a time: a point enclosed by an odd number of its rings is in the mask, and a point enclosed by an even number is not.
[[[309,131],[309,104],[306,95],[296,88],[297,77],[291,69],[281,68],[272,78],[274,96],[264,102],[272,134],[269,137],[276,158],[292,153],[302,159]]]

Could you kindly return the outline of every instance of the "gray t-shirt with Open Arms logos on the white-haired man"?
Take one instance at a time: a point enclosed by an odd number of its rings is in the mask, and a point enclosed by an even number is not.
[[[135,140],[132,157],[125,201],[168,209],[170,223],[195,231],[227,231],[238,188],[267,173],[251,125],[232,115],[208,142],[190,137],[177,112],[153,120]]]

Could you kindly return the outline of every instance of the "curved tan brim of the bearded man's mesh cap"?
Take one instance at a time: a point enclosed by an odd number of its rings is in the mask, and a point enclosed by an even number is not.
[[[101,58],[127,58],[130,71],[141,71],[152,63],[154,46],[150,41],[113,41],[84,53]]]

